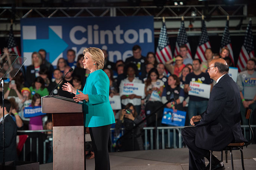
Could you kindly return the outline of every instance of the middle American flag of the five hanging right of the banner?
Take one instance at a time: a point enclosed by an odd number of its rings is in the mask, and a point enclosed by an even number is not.
[[[202,33],[199,38],[199,44],[196,49],[195,59],[200,59],[201,61],[206,61],[205,50],[206,48],[211,48],[209,37],[207,34],[207,29],[205,25],[205,20],[202,20]]]

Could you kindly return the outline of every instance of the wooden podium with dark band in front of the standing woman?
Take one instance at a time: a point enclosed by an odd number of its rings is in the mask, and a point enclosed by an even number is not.
[[[53,118],[53,170],[85,169],[82,104],[42,97],[42,112]]]

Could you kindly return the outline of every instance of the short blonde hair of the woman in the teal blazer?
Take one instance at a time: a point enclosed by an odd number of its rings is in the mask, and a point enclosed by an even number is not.
[[[103,69],[104,67],[104,53],[100,48],[89,47],[85,48],[83,54],[89,53],[93,62],[96,62],[97,69]]]

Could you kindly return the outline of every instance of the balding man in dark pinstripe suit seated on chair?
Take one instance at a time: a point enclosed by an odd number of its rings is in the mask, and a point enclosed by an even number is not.
[[[210,151],[221,151],[231,142],[246,142],[240,126],[240,92],[238,85],[227,74],[229,67],[223,59],[213,59],[207,67],[210,78],[217,83],[212,88],[208,106],[199,116],[193,116],[193,126],[182,129],[182,138],[189,149],[189,170],[209,169],[204,157]],[[194,126],[196,124],[196,126]],[[212,158],[213,169],[224,167]]]

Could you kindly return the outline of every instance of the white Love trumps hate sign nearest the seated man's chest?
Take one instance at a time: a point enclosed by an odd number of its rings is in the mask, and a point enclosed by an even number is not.
[[[210,98],[211,85],[191,81],[189,86],[191,90],[188,91],[188,95]]]

